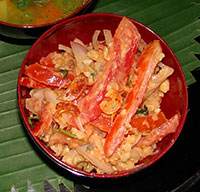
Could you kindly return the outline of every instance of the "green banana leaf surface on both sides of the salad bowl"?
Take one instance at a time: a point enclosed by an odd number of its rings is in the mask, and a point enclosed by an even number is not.
[[[96,0],[88,12],[108,12],[131,17],[157,32],[177,56],[187,85],[195,82],[191,71],[200,66],[195,55],[200,45],[200,0]],[[58,190],[62,182],[74,191],[73,179],[59,172],[27,137],[17,106],[17,77],[32,42],[0,35],[0,191],[44,190],[44,180]]]

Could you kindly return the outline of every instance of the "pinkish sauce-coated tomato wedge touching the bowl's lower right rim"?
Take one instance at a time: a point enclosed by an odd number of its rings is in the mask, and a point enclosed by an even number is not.
[[[176,128],[179,125],[179,118],[180,114],[175,114],[167,122],[152,130],[149,135],[142,137],[137,143],[137,146],[150,146],[153,143],[157,143],[158,141],[160,141],[169,133],[173,133],[174,131],[176,131]]]

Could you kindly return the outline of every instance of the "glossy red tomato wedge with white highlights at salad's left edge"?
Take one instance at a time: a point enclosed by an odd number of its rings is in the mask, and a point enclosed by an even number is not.
[[[62,88],[67,88],[74,79],[72,74],[68,74],[66,78],[63,78],[58,71],[38,63],[29,65],[24,74],[39,83]]]

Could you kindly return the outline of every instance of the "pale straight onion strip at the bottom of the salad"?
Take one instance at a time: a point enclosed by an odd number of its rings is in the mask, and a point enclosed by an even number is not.
[[[81,154],[85,159],[87,159],[90,163],[95,165],[96,167],[103,170],[105,173],[112,173],[113,169],[108,166],[106,163],[99,161],[96,157],[92,156],[91,154],[87,153],[84,149],[80,146],[76,147],[76,151]]]

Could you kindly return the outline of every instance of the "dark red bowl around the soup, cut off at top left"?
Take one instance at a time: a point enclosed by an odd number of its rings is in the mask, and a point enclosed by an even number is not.
[[[61,23],[75,15],[83,14],[86,12],[87,8],[91,5],[94,0],[87,0],[82,7],[76,10],[74,13],[64,17],[55,22],[46,23],[42,25],[15,25],[11,23],[6,23],[0,21],[0,34],[6,37],[16,38],[16,39],[35,39],[39,37],[44,31],[49,29],[51,26]]]

